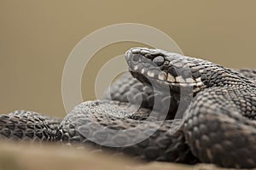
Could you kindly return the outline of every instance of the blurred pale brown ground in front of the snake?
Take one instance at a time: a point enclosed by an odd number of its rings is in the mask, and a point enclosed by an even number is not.
[[[213,165],[198,164],[186,166],[174,163],[133,161],[123,156],[109,156],[108,153],[90,153],[87,149],[74,149],[56,144],[14,144],[0,143],[0,169],[4,170],[189,170],[222,169]]]

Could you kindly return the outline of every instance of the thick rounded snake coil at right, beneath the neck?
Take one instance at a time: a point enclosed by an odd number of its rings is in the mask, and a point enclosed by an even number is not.
[[[253,142],[256,130],[255,122],[250,119],[255,120],[252,113],[256,110],[246,104],[247,96],[236,95],[238,100],[233,101],[233,93],[233,89],[216,87],[197,95],[190,110],[194,114],[184,124],[184,130],[189,132],[186,138],[195,156],[203,162],[224,167],[255,167],[256,160],[251,154],[256,153]],[[206,125],[207,131],[201,129]]]

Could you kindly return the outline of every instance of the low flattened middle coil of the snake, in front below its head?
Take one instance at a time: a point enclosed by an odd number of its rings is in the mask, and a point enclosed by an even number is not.
[[[92,145],[95,149],[112,150],[113,153],[122,152],[146,161],[175,161],[190,164],[198,162],[185,144],[183,133],[168,132],[172,121],[163,122],[154,132],[152,130],[158,126],[157,118],[144,119],[148,118],[151,110],[141,108],[135,111],[131,110],[130,106],[128,103],[111,100],[87,101],[77,105],[61,122],[60,130],[56,133],[57,139],[66,144],[83,143]],[[146,121],[148,122],[145,126],[138,127]],[[108,132],[105,127],[123,131]],[[137,139],[146,134],[148,134],[147,138],[137,142]],[[110,147],[109,144],[129,145]]]

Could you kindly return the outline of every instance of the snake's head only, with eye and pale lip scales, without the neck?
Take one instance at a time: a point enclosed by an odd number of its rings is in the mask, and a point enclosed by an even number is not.
[[[131,48],[125,53],[131,75],[149,86],[179,92],[180,88],[198,88],[201,79],[192,77],[186,57],[160,49]]]

